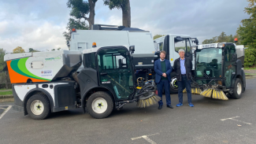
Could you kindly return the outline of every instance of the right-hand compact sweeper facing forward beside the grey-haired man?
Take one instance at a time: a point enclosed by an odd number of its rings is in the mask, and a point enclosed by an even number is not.
[[[195,50],[195,76],[191,92],[208,98],[241,98],[246,89],[243,55],[237,57],[236,44],[204,44]],[[239,52],[240,53],[240,52]],[[240,54],[239,54],[240,56]]]

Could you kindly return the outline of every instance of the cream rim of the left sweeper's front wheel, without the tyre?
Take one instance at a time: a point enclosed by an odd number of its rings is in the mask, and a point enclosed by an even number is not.
[[[96,98],[92,102],[91,108],[95,113],[104,113],[108,108],[108,104],[104,98]]]

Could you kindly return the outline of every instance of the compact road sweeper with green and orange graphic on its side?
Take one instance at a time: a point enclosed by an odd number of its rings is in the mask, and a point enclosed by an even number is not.
[[[161,98],[155,94],[154,80],[136,88],[134,51],[135,46],[101,46],[83,54],[75,50],[6,54],[13,109],[37,120],[77,108],[105,118],[127,103],[157,104]],[[82,63],[84,68],[77,73]]]

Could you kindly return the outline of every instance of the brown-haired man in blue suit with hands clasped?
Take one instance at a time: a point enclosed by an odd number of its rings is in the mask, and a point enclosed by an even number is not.
[[[167,107],[173,109],[173,106],[171,105],[171,97],[170,97],[170,81],[171,81],[170,73],[172,72],[172,66],[170,61],[165,59],[165,54],[166,52],[162,50],[160,52],[160,59],[157,61],[154,61],[154,72],[156,72],[155,83],[157,83],[157,86],[158,86],[158,96],[161,97],[161,100],[158,102],[159,104],[158,109],[161,109],[163,105],[163,102],[162,102],[163,87],[165,89],[165,98],[166,98]]]

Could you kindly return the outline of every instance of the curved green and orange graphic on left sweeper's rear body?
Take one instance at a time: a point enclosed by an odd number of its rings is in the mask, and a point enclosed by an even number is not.
[[[32,82],[47,82],[51,80],[35,76],[32,72],[29,72],[28,68],[26,68],[27,60],[28,57],[6,61],[11,83],[27,83],[28,79],[32,79]]]

